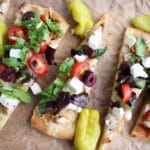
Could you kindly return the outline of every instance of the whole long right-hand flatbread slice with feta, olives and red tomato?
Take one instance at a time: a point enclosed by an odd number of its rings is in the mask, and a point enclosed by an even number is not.
[[[119,55],[119,64],[105,118],[99,149],[111,142],[115,132],[121,132],[125,121],[132,119],[132,109],[147,85],[150,68],[150,35],[128,27]]]

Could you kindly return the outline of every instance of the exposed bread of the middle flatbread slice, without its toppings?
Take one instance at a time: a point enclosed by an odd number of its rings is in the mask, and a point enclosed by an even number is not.
[[[104,17],[102,17],[102,19],[103,18]],[[95,25],[92,31],[94,31],[95,29],[101,30],[106,21],[107,19],[105,19],[105,22],[103,21],[103,23],[101,23],[100,19],[100,21],[98,21],[98,23]],[[81,44],[87,42],[88,36],[90,36],[92,31],[89,31],[87,33],[86,39]],[[89,62],[90,67],[94,71],[97,60],[87,59],[87,61]],[[90,92],[89,87],[86,89],[85,92],[86,93]],[[79,116],[78,111],[70,110],[67,108],[62,109],[57,115],[54,115],[50,112],[47,112],[46,114],[40,114],[37,106],[33,111],[33,116],[31,118],[31,126],[44,132],[45,134],[51,137],[58,139],[72,140],[75,134],[78,116]]]

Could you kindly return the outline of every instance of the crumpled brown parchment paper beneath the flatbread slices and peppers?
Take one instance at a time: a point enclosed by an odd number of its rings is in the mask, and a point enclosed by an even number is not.
[[[2,0],[0,0],[1,2]],[[52,7],[58,11],[73,27],[75,24],[63,0],[26,0],[43,7]],[[122,43],[123,33],[130,20],[137,15],[150,14],[150,0],[82,0],[89,8],[93,20],[96,22],[101,15],[109,12],[103,41],[108,45],[108,50],[97,65],[98,80],[92,89],[90,106],[97,108],[103,116],[107,111],[113,80],[115,77],[118,54]],[[12,0],[7,16],[10,25],[15,18],[15,12],[23,0]],[[68,32],[56,52],[58,64],[70,54],[71,48],[76,48],[82,39]],[[58,73],[58,67],[51,67],[49,74],[39,79],[44,88]],[[39,97],[33,97],[30,105],[19,104],[11,118],[0,131],[0,150],[73,150],[72,142],[56,140],[33,129],[30,126],[32,110],[38,103]],[[116,134],[107,150],[149,150],[150,144],[129,136],[132,122],[126,124],[125,130]]]

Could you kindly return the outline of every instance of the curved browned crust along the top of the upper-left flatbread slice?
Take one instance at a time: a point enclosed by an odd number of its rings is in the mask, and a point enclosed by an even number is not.
[[[48,16],[50,20],[59,22],[60,27],[61,27],[62,32],[63,32],[63,36],[65,35],[65,33],[67,32],[67,30],[69,28],[69,24],[52,8],[43,8],[43,7],[40,7],[38,5],[33,5],[30,3],[26,3],[26,2],[22,3],[19,11],[16,13],[15,23],[20,22],[23,14],[25,14],[28,11],[31,11],[31,12],[37,12],[38,11],[40,13],[40,15]],[[47,44],[50,47],[56,49],[59,46],[59,43],[62,40],[63,36],[59,37],[59,36],[57,36],[57,34],[54,34],[52,32],[48,41],[47,41]]]

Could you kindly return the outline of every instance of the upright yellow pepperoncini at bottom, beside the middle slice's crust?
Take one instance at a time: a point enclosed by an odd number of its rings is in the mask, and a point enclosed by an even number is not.
[[[100,115],[97,110],[84,108],[77,122],[74,146],[76,150],[95,150],[100,136]]]

